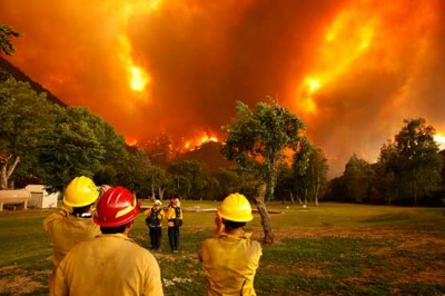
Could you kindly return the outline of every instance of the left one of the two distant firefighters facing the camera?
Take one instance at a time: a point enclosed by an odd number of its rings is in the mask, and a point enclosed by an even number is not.
[[[146,225],[149,230],[151,249],[160,251],[160,240],[162,237],[162,227],[161,223],[164,217],[166,216],[164,209],[160,207],[162,203],[159,199],[156,199],[152,208],[144,211],[146,215]]]

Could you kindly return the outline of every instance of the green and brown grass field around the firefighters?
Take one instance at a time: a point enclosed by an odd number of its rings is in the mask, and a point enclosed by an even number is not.
[[[216,208],[182,201],[182,208]],[[286,206],[289,206],[287,209]],[[320,204],[269,204],[276,243],[263,245],[258,295],[445,295],[445,209]],[[41,224],[51,210],[0,213],[0,295],[48,295],[51,247]],[[164,229],[158,259],[166,295],[202,295],[197,253],[214,231],[214,213],[186,211],[180,253]],[[255,215],[246,230],[261,240]],[[149,246],[144,216],[130,237]]]

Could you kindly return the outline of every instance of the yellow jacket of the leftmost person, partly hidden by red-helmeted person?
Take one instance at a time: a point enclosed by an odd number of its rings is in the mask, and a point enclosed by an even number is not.
[[[55,268],[73,246],[101,234],[92,218],[72,216],[63,208],[43,220],[43,229],[52,245]]]

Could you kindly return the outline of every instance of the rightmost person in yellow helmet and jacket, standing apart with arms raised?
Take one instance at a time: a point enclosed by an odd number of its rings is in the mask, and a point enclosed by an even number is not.
[[[244,195],[227,196],[215,217],[214,237],[202,241],[199,260],[206,275],[206,295],[256,295],[254,278],[263,255],[258,241],[244,231],[254,219]]]

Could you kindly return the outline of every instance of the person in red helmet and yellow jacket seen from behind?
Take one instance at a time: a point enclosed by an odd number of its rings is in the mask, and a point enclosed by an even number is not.
[[[56,273],[56,295],[164,295],[158,262],[128,237],[138,213],[128,189],[108,189],[93,216],[102,234],[65,256]]]

